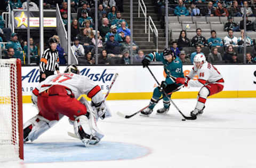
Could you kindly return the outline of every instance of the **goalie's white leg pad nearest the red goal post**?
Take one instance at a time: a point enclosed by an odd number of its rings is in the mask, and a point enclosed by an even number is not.
[[[61,116],[62,117],[62,116]],[[53,127],[58,121],[57,120],[47,120],[41,115],[36,115],[30,120],[28,120],[25,124],[23,124],[23,141],[26,142],[28,140],[34,141],[37,139],[42,133],[47,131],[49,128]]]

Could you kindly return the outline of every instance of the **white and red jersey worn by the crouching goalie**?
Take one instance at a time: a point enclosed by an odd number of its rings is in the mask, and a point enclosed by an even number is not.
[[[104,97],[100,87],[89,78],[75,73],[59,73],[50,75],[39,86],[39,94],[49,89],[53,85],[61,85],[69,88],[75,98],[86,94],[92,98],[92,102],[97,104],[103,101]]]

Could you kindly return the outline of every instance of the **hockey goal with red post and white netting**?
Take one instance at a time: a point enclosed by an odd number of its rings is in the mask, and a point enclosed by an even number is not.
[[[0,59],[0,162],[23,159],[21,61]]]

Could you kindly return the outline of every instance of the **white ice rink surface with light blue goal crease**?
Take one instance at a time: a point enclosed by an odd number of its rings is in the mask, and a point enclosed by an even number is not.
[[[173,99],[174,103],[185,114],[189,115],[194,109],[196,99]],[[64,117],[49,131],[33,143],[25,145],[25,163],[4,163],[0,167],[11,168],[41,168],[41,167],[256,167],[256,98],[211,98],[206,101],[204,114],[195,121],[181,121],[182,116],[171,105],[168,115],[156,115],[156,110],[163,106],[162,101],[154,108],[149,117],[135,115],[130,119],[123,119],[116,115],[120,111],[130,115],[140,108],[145,107],[149,100],[118,100],[107,101],[113,117],[99,120],[98,127],[105,133],[98,146],[84,148],[80,140],[67,135],[73,132],[73,126]],[[37,114],[31,104],[23,105],[23,122]],[[47,143],[55,144],[52,147],[55,155],[63,153],[62,145],[79,144],[76,148],[64,148],[69,157],[86,157],[86,161],[28,163],[26,155],[31,153],[28,146]],[[110,146],[125,144],[129,147],[139,146],[147,151],[143,156],[131,159],[115,160],[118,151],[125,157],[123,148],[118,150]],[[123,146],[123,147],[124,147]],[[106,150],[101,148],[106,147]],[[109,147],[109,148],[108,148]],[[95,148],[95,150],[93,150]],[[101,150],[98,150],[101,148]],[[114,149],[115,148],[115,149]],[[129,147],[130,148],[130,147]],[[39,149],[40,150],[40,149]],[[43,150],[43,149],[42,149]],[[81,150],[91,150],[89,155],[83,155]],[[135,152],[137,149],[134,149]],[[109,161],[91,161],[90,154],[97,156],[98,152],[113,156]],[[138,150],[139,151],[139,150]],[[134,151],[133,151],[134,152]],[[88,151],[87,151],[88,153]],[[76,155],[73,155],[76,154]],[[33,154],[32,154],[33,155]],[[37,153],[35,153],[37,155]],[[81,156],[82,155],[82,156]],[[132,154],[133,155],[133,154]]]

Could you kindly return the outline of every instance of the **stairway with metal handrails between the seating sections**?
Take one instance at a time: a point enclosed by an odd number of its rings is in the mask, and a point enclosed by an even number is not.
[[[154,13],[154,6],[151,0],[144,0],[144,2],[147,7],[147,17],[151,16],[158,30],[158,52],[162,52],[165,48],[165,30],[161,29],[160,21],[157,20],[157,14]],[[130,28],[130,0],[124,0],[124,13],[122,13],[122,18],[127,21]],[[133,0],[133,41],[145,54],[156,51],[155,44],[153,43],[153,33],[150,33],[150,38],[150,42],[148,42],[148,30],[147,33],[145,33],[144,15],[140,10],[140,18],[138,17],[138,1]]]

